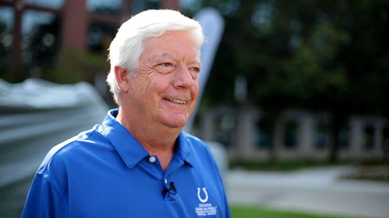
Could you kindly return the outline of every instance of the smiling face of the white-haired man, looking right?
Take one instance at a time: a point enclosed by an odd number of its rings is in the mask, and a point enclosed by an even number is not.
[[[129,116],[145,125],[183,127],[197,102],[200,68],[198,47],[189,33],[168,31],[147,39],[136,76],[129,80]]]

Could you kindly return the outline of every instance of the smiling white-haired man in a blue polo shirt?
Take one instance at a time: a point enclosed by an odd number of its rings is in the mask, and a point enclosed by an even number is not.
[[[107,82],[118,109],[55,147],[34,177],[23,217],[230,217],[220,173],[181,132],[199,94],[203,33],[170,10],[123,23]]]

